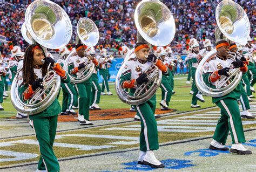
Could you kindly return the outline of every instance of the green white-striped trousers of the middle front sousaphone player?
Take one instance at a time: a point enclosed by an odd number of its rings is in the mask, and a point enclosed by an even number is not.
[[[154,118],[154,112],[156,111],[156,95],[144,104],[134,107],[137,111],[137,115],[140,117],[140,150],[143,152],[147,150],[157,150],[159,148],[158,131],[157,121],[156,118]]]

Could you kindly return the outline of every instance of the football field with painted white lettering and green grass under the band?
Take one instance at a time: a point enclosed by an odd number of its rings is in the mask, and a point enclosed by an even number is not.
[[[93,126],[79,126],[76,116],[69,116],[75,119],[72,121],[59,119],[54,150],[60,171],[255,171],[256,120],[242,119],[247,141],[244,146],[252,150],[252,155],[208,149],[220,109],[209,97],[204,97],[205,103],[198,102],[201,108],[190,108],[191,85],[185,84],[185,77],[181,75],[174,81],[176,94],[170,107],[177,111],[158,111],[162,113],[157,119],[160,147],[155,155],[165,163],[164,169],[137,164],[140,122],[133,120],[134,113],[131,112],[129,118],[102,120],[99,116],[106,115],[103,110],[92,120]],[[127,111],[129,106],[118,100],[114,85],[111,85],[111,92],[114,95],[101,97],[99,106]],[[157,104],[160,99],[158,90]],[[256,103],[250,105],[250,112],[256,115]],[[29,120],[11,118],[16,112],[9,98],[3,106],[8,111],[1,112],[0,119],[0,171],[35,171],[39,150]],[[94,112],[91,113],[93,117]],[[231,136],[228,136],[227,146],[231,145]]]

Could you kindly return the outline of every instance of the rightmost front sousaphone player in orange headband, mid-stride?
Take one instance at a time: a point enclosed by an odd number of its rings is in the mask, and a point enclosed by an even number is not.
[[[233,61],[233,59],[229,57],[229,47],[230,45],[225,40],[220,40],[216,44],[217,55],[211,57],[205,64],[204,81],[211,87],[215,87],[222,75],[228,77],[227,72],[230,70],[230,68],[228,68],[230,64],[233,64],[235,68],[240,68],[242,72],[247,71],[245,61],[239,59]],[[239,106],[237,104],[237,99],[239,99],[240,95],[241,90],[238,86],[235,87],[231,93],[223,97],[212,98],[213,103],[220,107],[221,116],[217,123],[210,149],[228,150],[228,147],[224,145],[226,144],[228,132],[231,132],[233,144],[230,152],[240,155],[252,154],[250,150],[247,150],[241,144],[245,142],[245,135],[242,128]]]

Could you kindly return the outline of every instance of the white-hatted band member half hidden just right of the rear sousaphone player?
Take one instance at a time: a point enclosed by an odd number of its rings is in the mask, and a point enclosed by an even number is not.
[[[88,47],[86,49],[86,53],[94,58],[96,58],[96,52],[93,47]],[[92,73],[92,93],[91,93],[91,103],[90,103],[90,109],[92,110],[100,110],[99,107],[99,100],[100,100],[100,93],[101,93],[101,88],[99,85],[99,78],[98,78],[98,67],[95,67]]]

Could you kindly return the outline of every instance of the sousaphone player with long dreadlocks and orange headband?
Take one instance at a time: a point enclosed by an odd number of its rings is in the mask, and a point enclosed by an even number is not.
[[[42,59],[44,59],[45,63],[42,63]],[[23,74],[22,77],[19,77],[19,81],[22,83],[19,88],[22,101],[28,101],[37,88],[43,88],[43,77],[47,72],[48,65],[51,65],[63,81],[69,81],[69,77],[62,67],[58,63],[55,63],[53,59],[46,58],[40,45],[32,44],[26,48]],[[59,171],[59,163],[52,149],[59,113],[60,105],[56,98],[43,112],[29,115],[41,154],[38,162],[38,170]]]

